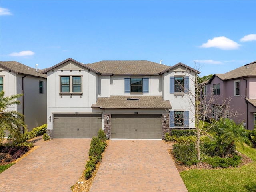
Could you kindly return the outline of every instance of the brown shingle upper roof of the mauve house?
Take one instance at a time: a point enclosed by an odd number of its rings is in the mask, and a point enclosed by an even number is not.
[[[221,80],[229,80],[246,76],[256,76],[256,61],[236,68],[230,72],[215,75],[218,76]]]

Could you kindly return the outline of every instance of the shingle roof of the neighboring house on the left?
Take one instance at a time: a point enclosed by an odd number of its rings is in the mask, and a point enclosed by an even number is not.
[[[39,72],[36,72],[36,69],[31,68],[29,66],[26,66],[26,65],[21,64],[16,61],[0,61],[0,66],[4,66],[4,68],[14,71],[17,74],[25,74],[25,75],[29,75],[29,76],[47,78],[47,75],[42,74],[40,70],[39,70]]]

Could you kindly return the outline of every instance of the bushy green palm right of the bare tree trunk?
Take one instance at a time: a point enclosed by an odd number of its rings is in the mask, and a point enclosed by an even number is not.
[[[236,124],[233,120],[223,119],[216,124],[214,132],[212,142],[208,145],[208,148],[215,155],[226,157],[228,154],[232,154],[236,142],[252,146],[248,138],[248,132],[246,132],[242,123]]]

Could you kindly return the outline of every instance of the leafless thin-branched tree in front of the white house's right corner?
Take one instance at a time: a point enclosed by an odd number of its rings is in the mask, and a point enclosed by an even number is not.
[[[223,98],[222,95],[216,94],[216,87],[210,88],[210,90],[205,90],[205,86],[208,81],[200,82],[199,69],[196,66],[195,62],[194,75],[190,75],[190,82],[194,84],[194,88],[189,88],[187,90],[188,94],[188,104],[190,112],[189,118],[190,122],[195,124],[195,129],[191,130],[196,134],[196,151],[197,151],[197,159],[200,160],[200,137],[210,128],[216,125],[216,123],[223,118],[230,118],[231,116],[237,116],[237,112],[233,112],[230,106],[231,98]],[[190,70],[189,70],[190,71]],[[190,74],[193,72],[190,71]],[[182,90],[185,89],[184,84],[180,84]],[[215,94],[214,94],[215,93]],[[178,119],[175,119],[178,122]],[[209,126],[205,128],[205,122],[209,122]]]

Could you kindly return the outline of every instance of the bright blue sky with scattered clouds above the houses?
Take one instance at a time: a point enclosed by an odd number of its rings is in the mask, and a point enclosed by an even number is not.
[[[256,60],[255,10],[254,0],[1,0],[0,60],[162,60],[225,73]]]

